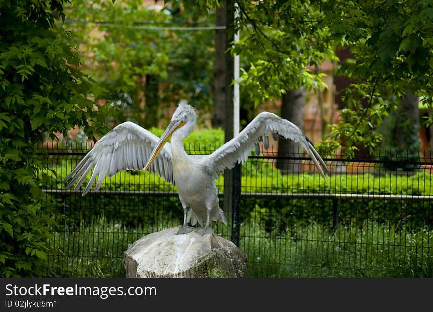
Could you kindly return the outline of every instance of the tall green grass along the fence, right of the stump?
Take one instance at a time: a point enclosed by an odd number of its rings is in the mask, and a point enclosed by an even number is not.
[[[433,277],[433,230],[368,221],[336,232],[316,222],[273,236],[244,227],[251,277]],[[258,239],[260,238],[260,239]]]

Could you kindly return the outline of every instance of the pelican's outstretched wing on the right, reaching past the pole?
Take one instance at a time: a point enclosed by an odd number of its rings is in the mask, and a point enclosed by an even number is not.
[[[322,157],[302,131],[290,121],[269,112],[258,114],[238,136],[222,145],[212,154],[204,156],[203,160],[209,164],[208,166],[212,170],[222,173],[224,169],[232,168],[237,162],[246,162],[251,150],[262,138],[264,138],[266,145],[268,134],[272,134],[274,137],[276,133],[304,146],[322,177],[325,178],[325,173],[330,175]]]

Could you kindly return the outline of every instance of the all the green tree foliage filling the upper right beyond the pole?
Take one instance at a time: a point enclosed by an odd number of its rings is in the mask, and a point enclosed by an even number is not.
[[[321,144],[322,153],[343,147],[353,155],[357,145],[372,152],[382,139],[377,126],[408,90],[432,107],[431,0],[235,2],[234,28],[241,40],[232,51],[250,59],[240,82],[255,104],[287,89],[323,87],[319,75],[307,68],[336,60],[335,51],[342,47],[353,54],[337,73],[353,82],[344,98],[347,107]],[[202,10],[221,5],[216,0],[184,3]]]

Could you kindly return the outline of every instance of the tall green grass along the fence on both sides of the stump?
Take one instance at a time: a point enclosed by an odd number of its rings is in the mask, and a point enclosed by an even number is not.
[[[240,249],[249,277],[433,277],[433,230],[387,223],[341,224],[334,232],[311,221],[280,234],[260,216],[241,226]],[[126,228],[97,217],[91,224],[56,232],[47,276],[124,277],[128,244],[155,229]]]

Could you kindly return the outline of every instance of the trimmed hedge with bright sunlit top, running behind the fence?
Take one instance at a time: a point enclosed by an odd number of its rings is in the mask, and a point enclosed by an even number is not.
[[[51,170],[40,173],[41,188],[64,189],[64,179],[75,166],[74,160],[62,159],[54,163]],[[324,194],[381,194],[381,195],[433,195],[432,174],[420,172],[414,175],[332,175],[324,181],[318,174],[281,175],[271,163],[263,159],[250,158],[242,167],[241,191],[244,193],[324,193]],[[89,179],[89,177],[87,178]],[[217,181],[219,192],[223,192],[224,179],[221,175]],[[162,211],[176,211],[176,217],[182,218],[180,202],[176,187],[165,182],[153,173],[139,171],[120,172],[112,178],[106,178],[102,190],[113,191],[151,191],[161,194],[93,194],[84,197],[78,194],[63,196],[63,202],[74,213],[69,213],[71,222],[75,220],[75,211],[89,209],[95,215],[105,214],[107,218],[117,218],[127,225],[138,225],[142,222],[154,222],[151,214],[154,206]],[[166,192],[174,195],[161,196]],[[222,199],[222,198],[221,198]],[[98,207],[94,207],[98,203]],[[422,199],[350,199],[344,196],[334,198],[291,197],[291,196],[242,196],[241,221],[249,218],[249,213],[256,206],[267,207],[272,212],[268,224],[272,227],[285,228],[293,218],[310,220],[327,224],[332,219],[333,209],[337,209],[340,222],[346,218],[356,217],[360,220],[373,218],[380,222],[392,221],[395,224],[407,224],[408,227],[422,225],[432,226],[432,202]],[[123,206],[120,209],[119,206]],[[80,208],[81,207],[81,208]],[[135,209],[134,207],[139,207]],[[179,212],[179,213],[178,213]],[[90,211],[87,212],[89,214]],[[271,217],[272,216],[272,217]],[[147,221],[146,221],[147,220]],[[277,226],[277,224],[279,224]],[[268,228],[271,230],[271,228]]]

